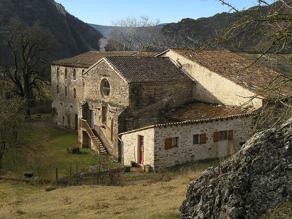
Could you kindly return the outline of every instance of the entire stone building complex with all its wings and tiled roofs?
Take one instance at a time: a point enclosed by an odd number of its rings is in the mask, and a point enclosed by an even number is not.
[[[217,157],[246,141],[251,111],[291,95],[291,88],[273,89],[282,74],[251,64],[227,50],[178,48],[55,61],[52,121],[77,128],[79,147],[122,157],[124,164],[158,168]]]

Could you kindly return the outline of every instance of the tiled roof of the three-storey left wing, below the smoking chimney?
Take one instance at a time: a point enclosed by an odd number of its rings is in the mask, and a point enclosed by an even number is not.
[[[118,51],[118,52],[97,52],[91,51],[87,53],[83,53],[71,58],[61,59],[52,62],[52,65],[62,65],[62,66],[73,66],[73,67],[84,67],[88,68],[93,65],[95,62],[100,60],[104,56],[131,56],[137,54],[137,51]]]

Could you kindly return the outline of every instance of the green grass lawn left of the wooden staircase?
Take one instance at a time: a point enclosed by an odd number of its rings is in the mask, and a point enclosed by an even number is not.
[[[98,164],[99,154],[89,148],[80,148],[80,154],[70,154],[67,147],[77,146],[78,135],[72,130],[64,129],[60,126],[50,124],[51,115],[44,115],[44,121],[34,121],[29,126],[31,132],[41,139],[41,148],[46,151],[46,156],[50,159],[51,167],[48,171],[48,178],[55,177],[55,169],[58,168],[58,177],[69,175],[70,163],[72,167],[78,162],[79,167],[88,167]],[[113,166],[120,164],[112,163]],[[24,165],[12,163],[8,171],[22,176],[26,170]]]

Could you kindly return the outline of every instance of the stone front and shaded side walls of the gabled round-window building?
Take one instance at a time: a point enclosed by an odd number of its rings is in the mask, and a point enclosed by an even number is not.
[[[114,149],[120,155],[118,133],[164,123],[164,112],[192,101],[194,83],[161,83],[128,85],[104,60],[90,69],[83,77],[83,105],[79,107],[79,118],[101,128]],[[109,95],[102,94],[102,81],[109,81]],[[167,95],[165,95],[167,94]],[[82,105],[82,104],[81,104]],[[103,115],[106,112],[106,121]],[[93,111],[93,112],[92,112]],[[93,115],[93,119],[91,116]],[[92,125],[92,124],[91,124]],[[79,130],[79,146],[92,142]]]

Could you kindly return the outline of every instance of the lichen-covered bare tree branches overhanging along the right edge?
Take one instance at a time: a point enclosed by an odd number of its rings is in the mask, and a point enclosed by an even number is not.
[[[284,54],[284,52],[291,52],[292,49],[292,1],[258,0],[258,5],[247,10],[238,10],[225,0],[218,1],[230,8],[233,13],[227,19],[232,19],[234,22],[222,30],[222,34],[215,38],[214,44],[229,44],[235,50],[254,54],[253,65],[268,61],[270,67],[276,71],[280,62],[291,62],[292,53]],[[246,41],[254,43],[252,49],[246,49]],[[257,65],[254,66],[256,68]],[[286,72],[286,76],[288,77],[275,78],[269,83],[272,86],[264,89],[263,92],[269,92],[270,89],[277,90],[279,97],[265,100],[264,106],[256,111],[254,131],[267,127],[267,124],[275,126],[291,118],[292,95],[280,98],[283,87],[291,88],[291,70]],[[251,98],[260,98],[260,94]],[[279,107],[279,103],[284,107]]]

